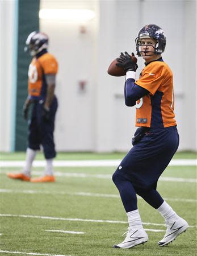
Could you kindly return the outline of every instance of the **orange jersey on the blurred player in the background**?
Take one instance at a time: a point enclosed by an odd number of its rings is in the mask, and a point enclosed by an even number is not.
[[[46,74],[56,74],[57,60],[50,53],[44,53],[39,58],[33,57],[28,70],[28,93],[30,96],[45,96],[47,84]]]

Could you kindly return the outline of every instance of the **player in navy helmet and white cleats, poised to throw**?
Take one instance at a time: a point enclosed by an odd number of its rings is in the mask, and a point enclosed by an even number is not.
[[[158,245],[167,245],[188,228],[187,222],[174,212],[156,190],[160,175],[179,145],[174,119],[173,73],[161,57],[165,46],[165,34],[160,27],[149,24],[141,28],[136,47],[137,55],[145,60],[145,68],[137,81],[137,64],[128,53],[121,52],[117,59],[116,65],[127,72],[125,104],[136,105],[136,126],[139,128],[132,139],[133,147],[112,177],[129,222],[125,240],[114,245],[115,248],[131,248],[148,241],[137,209],[136,193],[165,219],[166,234]]]

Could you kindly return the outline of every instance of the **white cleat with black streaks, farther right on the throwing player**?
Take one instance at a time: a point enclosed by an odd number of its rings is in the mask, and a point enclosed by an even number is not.
[[[176,220],[171,220],[170,222],[166,222],[167,230],[164,238],[158,242],[158,245],[164,246],[167,243],[172,242],[179,236],[179,234],[186,231],[188,228],[187,221],[183,220],[183,218],[178,218]]]

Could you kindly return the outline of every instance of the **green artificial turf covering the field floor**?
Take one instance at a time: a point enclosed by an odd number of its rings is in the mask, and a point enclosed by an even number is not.
[[[3,154],[1,159],[23,160],[23,156],[23,154]],[[121,154],[111,154],[105,159],[119,159],[120,156]],[[104,156],[78,154],[77,158],[104,159]],[[180,154],[175,158],[181,159]],[[194,154],[187,153],[182,158],[194,159],[195,157]],[[74,160],[74,154],[61,154],[60,159]],[[75,256],[197,255],[196,166],[170,166],[162,177],[176,177],[184,180],[158,182],[158,191],[167,199],[167,203],[192,227],[165,247],[157,245],[165,231],[147,231],[148,242],[125,250],[113,249],[112,245],[123,241],[124,237],[121,234],[126,231],[127,223],[90,221],[127,222],[118,191],[107,176],[112,175],[114,167],[55,168],[55,171],[60,174],[89,176],[60,175],[56,177],[56,183],[50,184],[35,184],[7,178],[6,172],[17,170],[20,171],[20,168],[1,168],[1,214],[11,214],[11,216],[1,215],[0,251],[2,252],[0,255],[2,256],[36,255],[36,253],[37,255]],[[33,171],[43,174],[41,168],[33,168]],[[96,177],[98,174],[106,177],[98,178]],[[165,230],[164,221],[156,210],[142,199],[138,200],[138,205],[142,221],[145,222],[145,229]],[[41,216],[56,219],[41,218]],[[80,220],[76,220],[77,218]],[[45,230],[84,232],[84,234]],[[20,253],[12,254],[3,251]]]

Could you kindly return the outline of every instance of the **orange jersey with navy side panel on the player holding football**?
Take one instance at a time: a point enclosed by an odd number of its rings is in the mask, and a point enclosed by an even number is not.
[[[164,61],[153,61],[141,72],[137,85],[150,93],[136,102],[136,126],[169,127],[174,117],[173,73]]]

